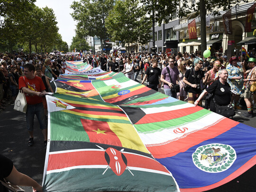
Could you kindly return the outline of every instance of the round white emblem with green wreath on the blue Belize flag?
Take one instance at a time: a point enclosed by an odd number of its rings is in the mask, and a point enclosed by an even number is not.
[[[192,159],[194,165],[202,171],[219,173],[233,165],[237,154],[230,145],[211,143],[198,147],[192,154]]]

